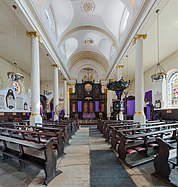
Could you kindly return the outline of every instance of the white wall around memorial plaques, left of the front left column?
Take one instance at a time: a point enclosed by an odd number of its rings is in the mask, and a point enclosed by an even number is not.
[[[19,94],[16,94],[13,90],[12,82],[8,80],[8,71],[12,71],[12,64],[0,57],[0,81],[2,82],[2,87],[0,88],[0,112],[29,112],[31,108],[31,99],[28,94],[28,89],[30,89],[30,75],[19,69],[19,73],[24,75],[24,83],[19,83],[21,91]],[[15,100],[13,100],[15,107],[12,109],[8,108],[6,105],[6,95],[9,89],[13,90],[15,96]],[[17,97],[23,99],[23,105],[25,102],[27,103],[27,110],[24,110],[24,107],[21,109],[17,107]]]

